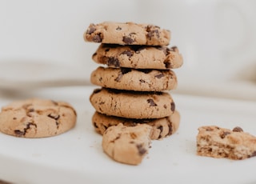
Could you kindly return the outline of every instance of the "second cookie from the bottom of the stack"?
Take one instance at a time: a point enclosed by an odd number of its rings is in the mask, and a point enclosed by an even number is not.
[[[95,89],[90,102],[99,113],[122,118],[163,118],[174,113],[169,93]]]

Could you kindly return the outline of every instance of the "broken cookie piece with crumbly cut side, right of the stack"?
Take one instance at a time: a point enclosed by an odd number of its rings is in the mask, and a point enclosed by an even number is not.
[[[213,158],[241,160],[256,156],[256,137],[243,132],[241,127],[228,130],[218,126],[198,129],[197,153]]]

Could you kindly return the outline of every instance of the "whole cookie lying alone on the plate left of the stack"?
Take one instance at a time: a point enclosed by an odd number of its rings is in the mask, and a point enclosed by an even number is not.
[[[23,138],[44,138],[74,127],[77,114],[67,102],[30,98],[2,107],[0,131]]]

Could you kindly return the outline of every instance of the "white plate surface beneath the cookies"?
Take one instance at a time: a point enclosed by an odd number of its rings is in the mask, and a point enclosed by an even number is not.
[[[139,166],[114,162],[102,152],[94,132],[89,96],[94,87],[49,88],[1,94],[0,105],[18,98],[52,98],[70,102],[77,126],[53,138],[15,138],[0,134],[0,178],[14,183],[255,183],[256,157],[242,161],[196,155],[199,126],[241,126],[256,134],[256,103],[173,94],[182,115],[178,132],[152,142]]]

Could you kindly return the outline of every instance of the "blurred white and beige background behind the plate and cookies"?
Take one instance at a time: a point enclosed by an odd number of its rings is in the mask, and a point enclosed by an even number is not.
[[[90,23],[171,31],[184,65],[174,93],[256,100],[254,0],[0,0],[0,90],[90,85]]]

